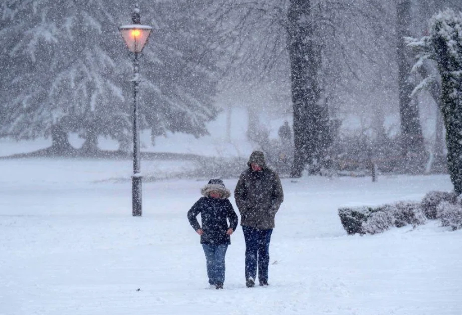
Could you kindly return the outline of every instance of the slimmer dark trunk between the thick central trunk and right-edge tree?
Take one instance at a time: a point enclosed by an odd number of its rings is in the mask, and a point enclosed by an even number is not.
[[[407,164],[405,168],[411,166],[410,164],[422,166],[424,162],[422,158],[425,158],[426,154],[422,128],[420,126],[418,104],[410,96],[413,90],[409,77],[411,65],[407,59],[407,47],[404,43],[404,37],[410,35],[410,6],[410,0],[397,0],[396,2],[396,57],[398,63],[399,114],[401,120],[401,148],[405,163]]]

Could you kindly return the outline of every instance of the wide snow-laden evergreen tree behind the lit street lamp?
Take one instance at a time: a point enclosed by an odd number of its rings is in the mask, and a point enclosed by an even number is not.
[[[180,4],[156,3],[142,16],[153,23],[156,39],[144,52],[141,121],[158,133],[199,136],[217,113],[215,60],[200,40],[198,27],[206,20],[194,27],[203,1]],[[129,20],[132,8],[126,12],[109,0],[2,5],[0,41],[9,52],[1,59],[2,73],[10,79],[0,91],[0,134],[17,139],[51,135],[55,152],[72,149],[69,132],[85,138],[82,148],[90,151],[99,135],[130,141],[132,91],[126,78],[133,69],[117,28]]]

